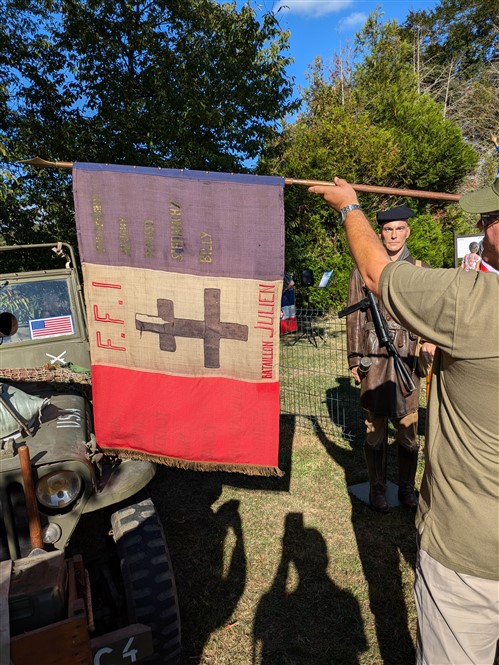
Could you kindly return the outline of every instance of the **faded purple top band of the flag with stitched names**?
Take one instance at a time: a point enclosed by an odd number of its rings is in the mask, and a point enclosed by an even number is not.
[[[75,164],[84,263],[184,275],[282,279],[284,180]]]

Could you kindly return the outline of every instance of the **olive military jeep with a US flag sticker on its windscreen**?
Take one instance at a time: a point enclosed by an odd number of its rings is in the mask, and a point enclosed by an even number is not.
[[[93,433],[73,249],[0,247],[0,270],[0,661],[179,663],[155,467]]]

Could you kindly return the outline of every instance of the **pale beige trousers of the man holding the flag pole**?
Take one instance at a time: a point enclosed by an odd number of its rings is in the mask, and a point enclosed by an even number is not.
[[[456,573],[419,550],[416,665],[493,665],[499,582]]]

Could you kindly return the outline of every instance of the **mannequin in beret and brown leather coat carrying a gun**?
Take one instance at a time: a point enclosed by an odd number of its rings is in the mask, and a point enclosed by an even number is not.
[[[397,206],[391,210],[378,212],[379,235],[391,261],[417,262],[406,247],[411,229],[408,220],[414,212],[407,206]],[[355,268],[350,275],[348,306],[365,298],[364,283]],[[397,434],[398,456],[398,497],[403,506],[415,509],[417,496],[414,479],[418,463],[418,407],[419,375],[416,349],[418,337],[397,324],[383,304],[379,302],[381,314],[385,318],[395,347],[412,374],[416,390],[407,393],[395,370],[393,358],[384,347],[380,347],[369,310],[357,310],[347,318],[348,365],[357,383],[361,384],[360,403],[367,411],[366,440],[364,452],[369,474],[369,504],[381,513],[389,509],[386,500],[386,455],[387,427],[391,419]],[[435,346],[427,342],[421,346],[421,357],[431,365]],[[364,377],[359,374],[362,357],[371,359],[370,369]]]

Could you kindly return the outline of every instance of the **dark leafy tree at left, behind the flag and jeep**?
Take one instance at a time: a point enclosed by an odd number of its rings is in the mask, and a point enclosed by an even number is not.
[[[17,158],[243,171],[296,107],[288,34],[249,4],[5,5],[5,133]],[[25,242],[69,228],[67,174],[21,174],[2,232]]]

